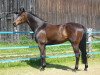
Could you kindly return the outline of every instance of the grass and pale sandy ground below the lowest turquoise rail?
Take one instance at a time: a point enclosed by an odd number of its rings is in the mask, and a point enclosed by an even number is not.
[[[16,63],[0,64],[0,75],[100,75],[100,55],[89,58],[88,71],[84,65],[79,64],[79,70],[73,71],[74,57],[47,59],[47,67],[40,71],[40,60],[22,61]]]

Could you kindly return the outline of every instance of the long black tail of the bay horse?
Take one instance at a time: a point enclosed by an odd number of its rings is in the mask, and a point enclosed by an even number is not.
[[[81,58],[82,58],[83,64],[87,63],[86,38],[87,38],[87,33],[85,29],[82,40],[80,41],[80,44],[79,44],[79,49],[81,51]]]

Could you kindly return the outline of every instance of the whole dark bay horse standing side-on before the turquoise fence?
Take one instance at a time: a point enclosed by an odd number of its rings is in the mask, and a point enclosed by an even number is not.
[[[36,15],[26,12],[24,8],[20,8],[13,25],[17,26],[25,22],[35,32],[35,40],[40,49],[41,69],[46,67],[46,45],[70,41],[76,57],[75,70],[78,69],[80,53],[82,62],[85,64],[84,70],[87,70],[86,28],[83,25],[78,23],[48,24]]]

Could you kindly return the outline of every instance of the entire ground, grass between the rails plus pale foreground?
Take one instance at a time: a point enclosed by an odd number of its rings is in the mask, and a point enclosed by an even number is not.
[[[25,40],[25,39],[24,39]],[[26,39],[27,40],[27,39]],[[69,44],[69,42],[65,43]],[[16,46],[37,46],[32,40],[20,41],[15,43],[0,43],[0,47]],[[73,53],[71,46],[51,46],[46,47],[47,56]],[[93,44],[93,51],[100,51],[100,43]],[[26,57],[38,57],[38,48],[0,50],[0,59],[17,59]],[[100,55],[92,55],[88,59],[89,71],[83,71],[84,65],[79,65],[79,71],[73,72],[75,57],[47,58],[45,71],[40,71],[40,60],[19,61],[13,63],[0,63],[0,75],[99,75],[100,74]]]

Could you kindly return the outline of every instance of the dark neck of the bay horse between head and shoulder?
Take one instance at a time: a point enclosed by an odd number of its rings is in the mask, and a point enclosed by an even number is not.
[[[44,24],[44,21],[30,14],[28,17],[28,24],[32,31],[35,32],[40,26]]]

